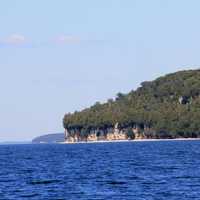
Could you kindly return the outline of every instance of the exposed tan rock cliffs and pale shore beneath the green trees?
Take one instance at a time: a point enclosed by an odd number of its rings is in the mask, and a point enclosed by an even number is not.
[[[171,141],[171,140],[199,140],[200,138],[184,137],[158,137],[147,126],[135,125],[132,127],[120,127],[118,123],[107,129],[92,129],[84,132],[81,129],[65,129],[64,143],[101,143],[101,142],[130,142],[130,141]]]

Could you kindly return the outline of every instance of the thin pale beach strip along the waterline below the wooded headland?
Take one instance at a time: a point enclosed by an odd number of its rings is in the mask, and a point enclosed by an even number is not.
[[[93,143],[120,143],[120,142],[160,142],[160,141],[198,141],[200,138],[174,138],[174,139],[135,139],[135,140],[97,140],[80,142],[60,142],[60,144],[93,144]]]

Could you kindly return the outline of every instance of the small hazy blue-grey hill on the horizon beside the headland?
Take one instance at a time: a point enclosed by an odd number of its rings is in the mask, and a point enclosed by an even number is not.
[[[57,142],[64,142],[64,133],[42,135],[32,140],[32,143],[57,143]]]

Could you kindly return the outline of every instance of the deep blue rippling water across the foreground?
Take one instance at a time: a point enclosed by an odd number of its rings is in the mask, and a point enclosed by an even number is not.
[[[0,199],[200,199],[200,142],[1,145]]]

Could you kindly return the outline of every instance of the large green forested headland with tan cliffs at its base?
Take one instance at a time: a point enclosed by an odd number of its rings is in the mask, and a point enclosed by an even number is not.
[[[66,142],[200,138],[200,70],[168,74],[63,118]]]

